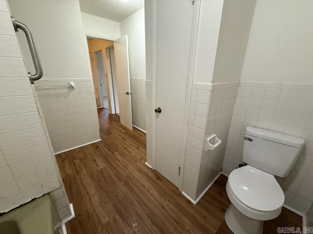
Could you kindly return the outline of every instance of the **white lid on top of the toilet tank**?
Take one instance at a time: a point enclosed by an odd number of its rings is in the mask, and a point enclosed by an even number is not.
[[[294,137],[250,126],[246,127],[246,135],[259,137],[262,139],[274,141],[280,144],[289,145],[296,148],[302,148],[305,142],[304,139],[301,137]]]

